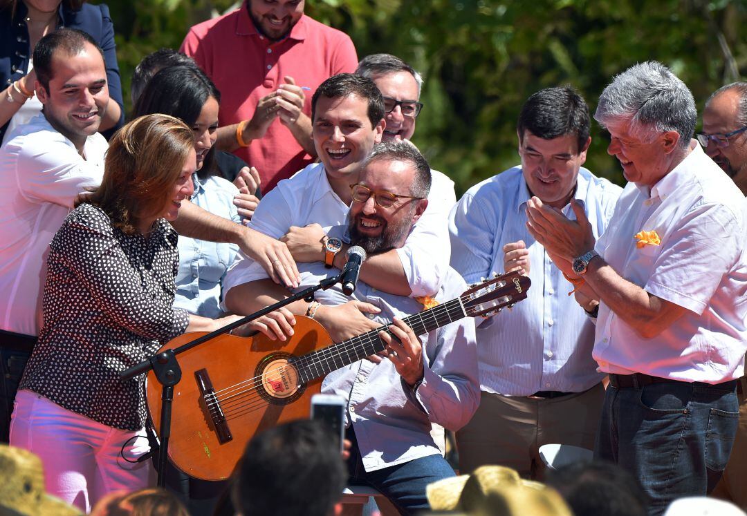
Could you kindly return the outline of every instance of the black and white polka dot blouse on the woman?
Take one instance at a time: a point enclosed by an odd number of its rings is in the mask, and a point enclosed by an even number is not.
[[[125,235],[108,215],[81,204],[50,244],[44,324],[19,388],[122,430],[146,420],[144,375],[119,373],[185,332],[173,308],[177,235],[165,220],[146,239]]]

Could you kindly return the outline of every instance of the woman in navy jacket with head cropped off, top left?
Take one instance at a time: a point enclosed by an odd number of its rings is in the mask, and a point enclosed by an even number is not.
[[[0,0],[0,141],[10,131],[37,115],[42,104],[34,97],[34,63],[37,42],[58,28],[87,32],[104,51],[110,102],[100,130],[121,125],[122,84],[114,45],[114,25],[105,4],[85,0]]]

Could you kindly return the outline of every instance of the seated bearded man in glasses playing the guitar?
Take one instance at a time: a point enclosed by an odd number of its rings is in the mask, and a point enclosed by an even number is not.
[[[351,186],[353,204],[347,226],[350,244],[361,246],[370,255],[401,248],[427,207],[430,179],[430,167],[409,142],[377,145],[363,163],[357,183]],[[330,228],[328,234],[347,236],[341,226]],[[323,263],[299,265],[300,288],[317,284],[329,275]],[[370,318],[376,327],[384,330],[381,324],[392,320],[394,324],[386,331],[364,336],[367,341],[380,339],[378,349],[383,350],[378,355],[341,367],[347,362],[347,351],[329,357],[340,368],[326,376],[322,391],[347,399],[347,438],[353,442],[351,477],[382,491],[403,514],[427,509],[425,486],[453,476],[443,457],[444,427],[458,430],[477,409],[480,388],[474,323],[462,318],[465,312],[459,307],[468,302],[457,301],[459,314],[452,312],[453,301],[444,303],[458,298],[465,288],[459,274],[447,269],[436,300],[427,298],[424,302],[427,307],[440,302],[444,309],[439,311],[437,306],[426,312],[428,316],[412,316],[408,326],[403,318],[421,312],[421,303],[359,282],[353,299],[371,306]],[[516,288],[522,290],[518,283]],[[288,295],[287,290],[265,279],[235,287],[227,301],[231,309],[249,313]],[[289,309],[314,318],[349,299],[335,286],[317,292],[317,301],[310,305],[297,301]],[[421,336],[422,340],[412,329],[421,333],[441,325]],[[376,350],[376,345],[371,349]]]

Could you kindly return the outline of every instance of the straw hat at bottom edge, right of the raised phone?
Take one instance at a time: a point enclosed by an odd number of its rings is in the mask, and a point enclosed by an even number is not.
[[[554,489],[524,480],[511,468],[480,466],[471,475],[454,476],[426,487],[434,511],[459,510],[474,515],[571,516]]]

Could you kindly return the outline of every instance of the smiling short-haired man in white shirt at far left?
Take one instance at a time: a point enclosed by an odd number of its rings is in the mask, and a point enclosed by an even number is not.
[[[82,31],[61,29],[34,49],[42,114],[0,148],[0,439],[40,328],[49,241],[75,196],[96,187],[108,144],[96,131],[109,102],[102,51]],[[6,419],[7,418],[7,419]]]

